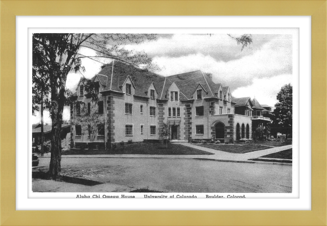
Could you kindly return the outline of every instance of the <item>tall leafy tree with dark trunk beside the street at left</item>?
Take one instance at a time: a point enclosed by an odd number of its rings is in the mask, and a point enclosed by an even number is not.
[[[64,106],[70,104],[70,93],[66,88],[68,73],[85,71],[81,62],[83,58],[95,61],[110,58],[135,66],[151,66],[151,59],[144,51],[133,51],[124,47],[155,38],[153,34],[33,34],[33,79],[40,75],[49,81],[48,86],[43,86],[45,92],[50,92],[50,97],[45,101],[52,120],[49,178],[57,179],[61,172],[62,112]],[[81,53],[81,48],[93,50],[94,54],[85,55]],[[37,79],[33,82],[34,85],[42,86]],[[95,96],[93,92],[92,97]]]

